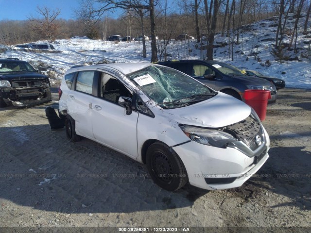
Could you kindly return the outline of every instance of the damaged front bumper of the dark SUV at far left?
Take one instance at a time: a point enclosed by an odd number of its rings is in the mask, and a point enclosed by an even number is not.
[[[29,108],[52,100],[50,87],[1,88],[0,94],[6,104]]]

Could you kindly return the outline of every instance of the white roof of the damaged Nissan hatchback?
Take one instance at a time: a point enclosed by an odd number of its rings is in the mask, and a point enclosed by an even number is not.
[[[151,63],[144,63],[144,62],[133,62],[133,63],[111,63],[111,64],[98,64],[94,66],[83,66],[83,67],[73,67],[75,69],[87,70],[90,67],[97,67],[97,68],[113,68],[120,71],[123,74],[133,73],[145,67],[149,67],[153,64]]]

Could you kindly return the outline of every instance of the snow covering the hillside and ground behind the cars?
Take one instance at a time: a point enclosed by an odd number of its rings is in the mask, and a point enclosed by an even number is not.
[[[286,30],[290,32],[294,24],[293,16],[289,17]],[[300,61],[287,60],[279,62],[273,55],[273,45],[276,37],[277,18],[261,20],[248,25],[246,30],[240,34],[240,44],[234,44],[234,61],[231,61],[229,47],[214,48],[214,60],[229,63],[241,69],[258,70],[259,72],[286,81],[287,87],[311,89],[311,33],[308,35],[298,34],[298,54],[293,51],[284,50],[284,56],[290,58],[298,56]],[[309,21],[310,24],[311,20]],[[300,28],[304,18],[299,20]],[[311,25],[309,25],[310,28]],[[236,39],[236,37],[235,37]],[[232,40],[232,39],[231,39]],[[283,43],[289,43],[290,33],[285,34]],[[38,43],[46,43],[39,41]],[[215,45],[229,44],[229,38],[216,34]],[[161,52],[163,41],[157,41],[158,53]],[[168,59],[200,59],[206,56],[206,50],[200,50],[206,42],[196,43],[195,40],[175,41],[172,40],[167,47]],[[17,47],[4,47],[1,57],[17,57],[30,62],[35,68],[46,67],[43,73],[49,75],[52,83],[57,84],[65,71],[73,65],[108,62],[151,62],[151,42],[146,41],[147,57],[142,57],[142,42],[112,42],[103,40],[91,40],[86,37],[72,37],[61,39],[53,43],[55,51],[36,53],[32,50],[17,49]],[[1,51],[0,51],[1,52]],[[309,53],[309,59],[304,55]],[[163,57],[158,57],[163,60]],[[266,65],[268,64],[268,66]]]

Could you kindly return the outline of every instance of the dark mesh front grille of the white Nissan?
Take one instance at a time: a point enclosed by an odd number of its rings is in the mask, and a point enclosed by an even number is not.
[[[230,133],[238,140],[241,140],[251,150],[256,150],[261,145],[256,143],[257,135],[260,136],[261,142],[264,141],[260,123],[252,116],[248,116],[238,123],[229,125],[223,130],[226,133]]]

